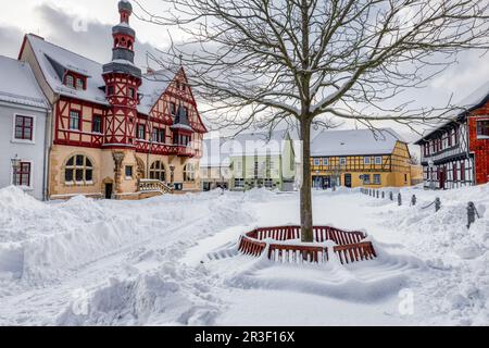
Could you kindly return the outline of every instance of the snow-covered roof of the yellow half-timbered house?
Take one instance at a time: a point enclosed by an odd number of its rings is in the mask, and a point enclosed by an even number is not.
[[[398,141],[405,142],[391,128],[325,130],[311,141],[311,156],[389,154]]]

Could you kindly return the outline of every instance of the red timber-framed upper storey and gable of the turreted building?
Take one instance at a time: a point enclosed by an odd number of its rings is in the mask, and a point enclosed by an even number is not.
[[[191,94],[190,87],[187,85],[187,79],[183,70],[177,74],[176,78],[179,78],[186,86],[185,91],[176,88],[176,83],[173,82],[168,88],[162,94],[160,99],[155,102],[150,115],[138,113],[133,117],[130,112],[134,112],[138,100],[135,98],[130,100],[125,97],[127,90],[123,88],[135,87],[129,84],[124,87],[117,86],[114,82],[114,109],[118,110],[115,113],[121,114],[116,120],[110,116],[112,113],[111,107],[108,104],[98,104],[88,101],[83,101],[70,97],[60,97],[55,103],[55,122],[54,122],[54,144],[66,145],[75,147],[88,147],[88,148],[110,148],[111,144],[127,144],[129,147],[136,146],[137,152],[152,153],[161,156],[180,156],[180,157],[196,157],[200,158],[202,153],[202,139],[203,134],[208,130],[203,125],[197,103]],[[110,84],[108,84],[109,86]],[[127,92],[128,94],[128,92]],[[109,96],[108,96],[109,97]],[[109,97],[111,98],[111,97]],[[171,126],[174,122],[174,115],[171,113],[171,103],[175,102],[177,105],[181,103],[188,108],[189,111],[189,124],[193,132],[190,132],[191,142],[190,147],[173,145],[173,132]],[[70,129],[70,111],[79,111],[80,115],[80,129]],[[124,115],[124,116],[122,116]],[[92,132],[93,116],[102,117],[101,133]],[[124,121],[127,125],[124,125]],[[136,125],[140,123],[146,128],[146,140],[137,139]],[[165,142],[151,141],[153,128],[164,129]],[[109,129],[109,132],[108,132]],[[127,142],[124,142],[127,141]]]

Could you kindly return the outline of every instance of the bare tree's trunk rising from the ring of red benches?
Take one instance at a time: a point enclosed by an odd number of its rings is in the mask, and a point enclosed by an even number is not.
[[[311,195],[311,122],[301,122],[302,186],[301,186],[301,239],[314,241]]]

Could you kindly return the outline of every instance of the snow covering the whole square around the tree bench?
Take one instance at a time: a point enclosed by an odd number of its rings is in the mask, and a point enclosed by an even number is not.
[[[0,325],[488,325],[489,185],[402,195],[315,191],[315,223],[365,231],[379,257],[299,266],[236,251],[254,226],[297,224],[297,194],[46,204],[0,189]]]

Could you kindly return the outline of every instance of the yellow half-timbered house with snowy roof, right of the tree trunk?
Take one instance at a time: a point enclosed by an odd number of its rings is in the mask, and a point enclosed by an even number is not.
[[[313,187],[411,185],[408,144],[392,129],[328,130],[311,141]]]

